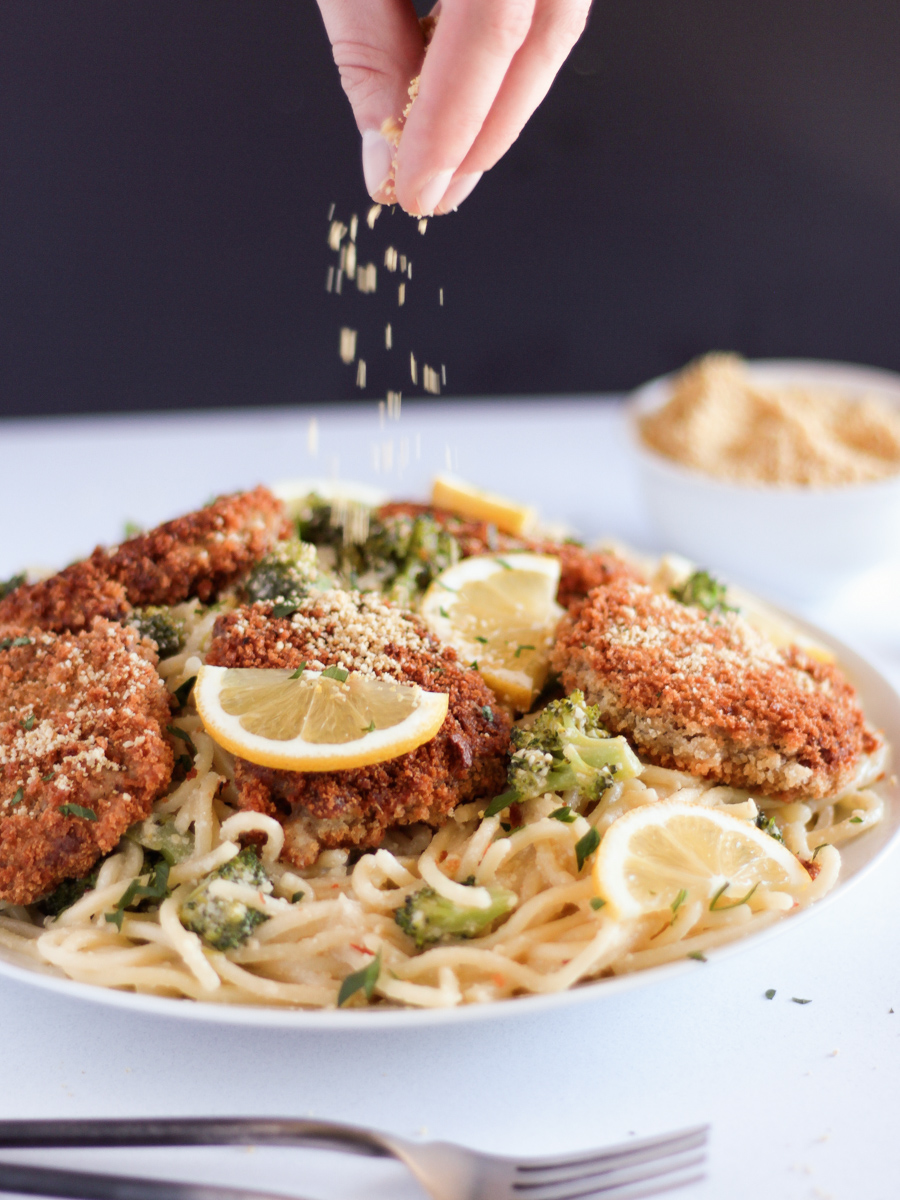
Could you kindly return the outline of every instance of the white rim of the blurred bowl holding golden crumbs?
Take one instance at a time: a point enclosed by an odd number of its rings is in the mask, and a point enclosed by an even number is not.
[[[866,367],[853,362],[828,362],[820,359],[748,359],[746,367],[749,374],[757,377],[761,382],[821,384],[822,386],[846,389],[858,396],[876,394],[880,398],[900,408],[900,373],[886,371],[882,367]],[[656,376],[655,379],[641,384],[625,397],[625,424],[631,448],[646,466],[652,467],[658,473],[680,482],[706,487],[719,494],[758,496],[764,493],[779,497],[809,497],[810,502],[812,499],[821,500],[823,496],[845,494],[846,492],[852,492],[854,496],[868,496],[877,500],[880,496],[895,492],[900,487],[900,472],[887,479],[827,486],[733,484],[715,475],[707,475],[695,467],[685,467],[683,463],[676,462],[674,458],[667,458],[643,440],[638,428],[638,419],[662,407],[668,400],[672,383],[684,370],[684,367],[679,367],[677,371]]]

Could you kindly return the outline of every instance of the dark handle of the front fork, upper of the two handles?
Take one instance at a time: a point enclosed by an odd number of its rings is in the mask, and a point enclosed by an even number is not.
[[[331,1121],[281,1117],[126,1117],[0,1121],[0,1148],[49,1146],[310,1146],[391,1157],[377,1134]]]

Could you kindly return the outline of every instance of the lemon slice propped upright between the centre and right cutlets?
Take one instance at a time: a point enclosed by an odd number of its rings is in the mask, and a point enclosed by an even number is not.
[[[556,602],[559,559],[550,554],[464,558],[434,580],[421,614],[485,683],[528,712],[547,680],[563,610]]]

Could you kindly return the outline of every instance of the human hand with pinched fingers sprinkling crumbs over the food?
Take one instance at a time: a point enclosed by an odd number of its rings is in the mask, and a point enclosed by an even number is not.
[[[590,0],[438,0],[425,56],[410,0],[318,0],[362,134],[373,199],[450,212],[509,150],[587,22]],[[421,76],[398,149],[384,137]]]

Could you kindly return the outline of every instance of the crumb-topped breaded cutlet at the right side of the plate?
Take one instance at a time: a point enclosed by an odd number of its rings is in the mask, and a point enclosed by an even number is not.
[[[628,580],[563,619],[552,667],[650,762],[776,799],[840,793],[880,745],[836,667]]]

